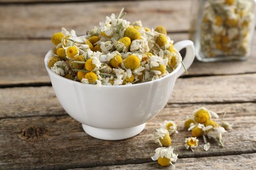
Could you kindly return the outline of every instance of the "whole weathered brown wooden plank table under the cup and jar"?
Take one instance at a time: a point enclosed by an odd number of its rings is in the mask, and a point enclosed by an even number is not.
[[[90,137],[62,109],[43,64],[51,35],[61,27],[83,35],[121,7],[131,22],[164,25],[175,42],[188,39],[188,0],[0,0],[0,169],[161,169],[150,157],[158,148],[151,135],[163,120],[179,125],[172,136],[177,169],[256,169],[256,41],[247,61],[194,61],[166,107],[131,139]],[[211,141],[205,152],[202,138],[195,152],[184,148],[190,132],[182,121],[202,106],[226,112],[233,125],[224,148]]]

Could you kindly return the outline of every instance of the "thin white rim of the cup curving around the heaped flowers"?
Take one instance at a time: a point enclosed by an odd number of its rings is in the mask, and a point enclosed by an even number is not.
[[[75,80],[70,80],[70,79],[68,79],[68,78],[64,78],[63,76],[60,76],[60,75],[54,73],[54,71],[52,71],[52,70],[48,67],[48,63],[47,63],[48,60],[49,60],[49,56],[50,56],[49,53],[54,54],[53,50],[54,50],[54,48],[52,48],[51,50],[49,50],[49,51],[47,52],[47,54],[45,55],[45,59],[44,59],[45,68],[47,69],[47,71],[48,71],[49,74],[51,73],[52,75],[54,75],[54,76],[56,76],[56,77],[58,77],[58,78],[60,78],[60,79],[62,78],[62,80],[66,81],[66,82],[75,83],[75,84],[77,84],[77,85],[79,85],[79,86],[89,86],[89,87],[95,86],[95,87],[99,87],[99,86],[96,86],[96,84],[84,84],[84,83],[82,83],[82,82],[77,82],[77,81],[75,81]],[[176,50],[176,49],[175,49],[175,50]],[[177,50],[176,50],[176,51],[177,51]],[[177,51],[177,52],[178,52],[178,51]],[[149,82],[142,82],[142,83],[138,83],[138,84],[125,84],[125,85],[120,85],[120,86],[106,86],[106,85],[102,85],[102,86],[100,86],[100,88],[129,88],[129,87],[145,86],[146,84],[152,84],[152,83],[155,83],[155,82],[160,82],[161,80],[164,80],[165,78],[169,78],[169,76],[173,76],[173,75],[179,73],[179,70],[180,70],[180,69],[181,69],[181,63],[179,63],[179,65],[176,67],[176,69],[175,69],[173,72],[169,73],[169,74],[166,75],[166,76],[163,76],[163,77],[161,77],[161,78],[158,78],[158,79],[156,79],[156,80],[151,80],[151,81],[149,81]],[[178,77],[177,77],[177,78],[178,78]]]

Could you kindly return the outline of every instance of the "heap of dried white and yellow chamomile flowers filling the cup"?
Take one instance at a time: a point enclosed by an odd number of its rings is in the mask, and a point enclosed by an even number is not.
[[[131,24],[119,16],[77,37],[74,30],[55,33],[53,57],[48,66],[54,73],[85,84],[125,85],[156,80],[168,75],[182,62],[165,27]]]

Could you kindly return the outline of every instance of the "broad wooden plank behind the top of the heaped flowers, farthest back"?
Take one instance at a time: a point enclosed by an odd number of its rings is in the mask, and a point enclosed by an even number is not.
[[[77,35],[84,35],[99,22],[104,22],[106,16],[112,13],[118,15],[122,7],[127,12],[125,19],[130,22],[141,20],[150,28],[164,25],[168,31],[188,31],[190,2],[104,1],[61,5],[1,5],[0,38],[49,38],[62,27],[74,29]]]

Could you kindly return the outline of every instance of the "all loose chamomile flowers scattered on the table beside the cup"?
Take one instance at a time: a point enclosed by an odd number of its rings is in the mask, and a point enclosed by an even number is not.
[[[224,113],[225,115],[226,113]],[[192,112],[192,116],[186,116],[186,120],[183,121],[181,128],[191,131],[191,136],[184,140],[184,148],[194,152],[198,147],[200,137],[203,137],[203,142],[205,143],[203,150],[205,151],[210,148],[207,138],[214,139],[223,147],[223,133],[226,130],[232,129],[232,125],[223,121],[224,116],[221,122],[217,123],[214,119],[219,118],[218,114],[205,107],[199,107]],[[171,146],[173,134],[178,133],[177,128],[178,126],[175,122],[165,120],[160,124],[159,128],[156,128],[154,135],[152,135],[154,142],[160,147],[156,148],[155,154],[151,158],[153,161],[158,161],[161,166],[173,165],[175,167],[175,162],[178,160],[178,154],[175,153],[174,146]]]

